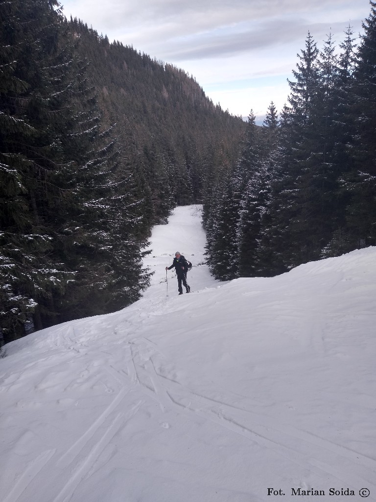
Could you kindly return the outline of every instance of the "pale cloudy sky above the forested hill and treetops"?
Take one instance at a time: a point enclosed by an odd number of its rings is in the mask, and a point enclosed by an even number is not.
[[[368,0],[62,0],[110,42],[119,40],[192,74],[234,115],[259,120],[271,100],[280,110],[286,82],[310,31],[319,48],[339,44],[369,16]]]

